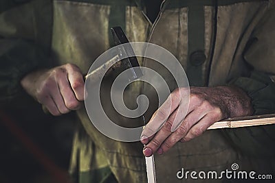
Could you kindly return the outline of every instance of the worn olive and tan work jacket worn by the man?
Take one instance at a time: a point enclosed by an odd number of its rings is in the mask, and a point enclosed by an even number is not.
[[[41,68],[67,63],[85,75],[91,64],[114,45],[110,28],[120,26],[131,42],[152,42],[179,60],[190,86],[235,85],[252,99],[254,114],[275,110],[274,1],[223,0],[162,2],[154,23],[143,1],[37,0],[7,3],[0,14],[1,101],[21,95],[20,80]],[[152,60],[140,65],[154,69],[177,86],[170,73]],[[109,100],[111,80],[102,86],[102,106],[109,117],[126,127]],[[157,109],[153,88],[136,82],[125,91],[125,103],[134,107],[140,93],[151,96],[148,121]],[[133,102],[134,101],[134,102]],[[69,169],[77,182],[146,182],[140,142],[115,141],[98,132],[84,105],[77,112],[80,125],[74,138]],[[133,125],[134,124],[134,125]],[[240,169],[274,171],[274,125],[235,130],[208,130],[187,143],[177,143],[155,156],[157,182],[210,182],[178,178],[177,172]],[[263,169],[261,169],[263,171]],[[268,173],[268,172],[266,172]],[[225,181],[223,180],[216,180]],[[227,181],[227,180],[226,180]],[[228,180],[229,181],[229,180]]]

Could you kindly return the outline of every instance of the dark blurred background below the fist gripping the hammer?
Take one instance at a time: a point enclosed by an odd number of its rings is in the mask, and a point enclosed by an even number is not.
[[[53,117],[24,97],[0,108],[0,183],[69,182],[74,112]]]

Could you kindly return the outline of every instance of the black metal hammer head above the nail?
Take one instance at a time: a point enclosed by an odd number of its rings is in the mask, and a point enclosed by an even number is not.
[[[122,62],[124,62],[124,64],[126,64],[127,67],[132,71],[132,75],[129,75],[129,80],[136,80],[137,78],[142,77],[142,70],[140,69],[140,64],[137,62],[133,48],[130,44],[122,45],[124,43],[129,43],[129,40],[126,38],[122,28],[112,27],[111,33],[113,35],[115,45],[121,45],[121,47],[119,47],[119,54],[121,56],[126,56]]]

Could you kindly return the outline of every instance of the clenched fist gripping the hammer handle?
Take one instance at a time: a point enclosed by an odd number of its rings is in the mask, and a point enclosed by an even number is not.
[[[54,116],[77,110],[84,99],[83,75],[74,64],[35,71],[26,75],[21,85]]]

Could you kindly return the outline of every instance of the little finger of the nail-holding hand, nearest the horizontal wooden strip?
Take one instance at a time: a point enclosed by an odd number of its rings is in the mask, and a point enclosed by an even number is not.
[[[181,139],[181,142],[188,142],[193,138],[200,136],[205,132],[215,120],[213,119],[211,114],[206,114],[197,124],[191,127],[189,132]]]

